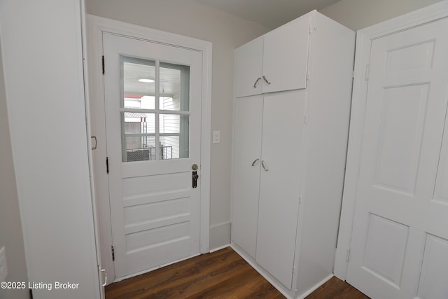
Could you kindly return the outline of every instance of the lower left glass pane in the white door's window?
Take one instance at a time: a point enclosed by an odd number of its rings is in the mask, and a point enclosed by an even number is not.
[[[123,162],[155,160],[155,114],[122,112]]]

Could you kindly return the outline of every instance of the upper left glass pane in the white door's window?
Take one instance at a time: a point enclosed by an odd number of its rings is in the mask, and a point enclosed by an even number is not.
[[[155,61],[120,56],[123,108],[155,109]]]

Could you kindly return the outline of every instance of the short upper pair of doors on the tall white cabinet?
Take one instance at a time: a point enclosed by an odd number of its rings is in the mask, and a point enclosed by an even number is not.
[[[304,15],[235,50],[236,97],[306,87],[310,18]]]

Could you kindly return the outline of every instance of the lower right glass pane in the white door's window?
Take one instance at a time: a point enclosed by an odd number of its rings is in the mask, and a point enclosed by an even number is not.
[[[188,158],[189,117],[160,114],[160,159]]]

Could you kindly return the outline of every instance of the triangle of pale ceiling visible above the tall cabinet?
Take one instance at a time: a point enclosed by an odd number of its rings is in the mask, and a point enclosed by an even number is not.
[[[274,29],[339,0],[194,0],[239,18]]]

